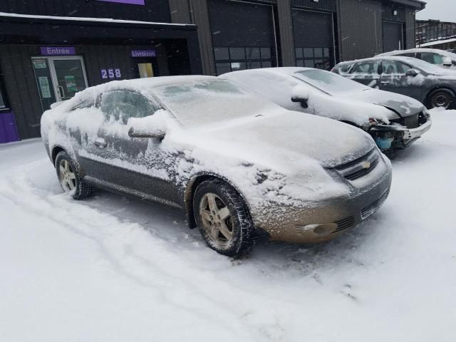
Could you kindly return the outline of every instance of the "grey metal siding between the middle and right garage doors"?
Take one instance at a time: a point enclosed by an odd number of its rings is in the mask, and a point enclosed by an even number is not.
[[[373,0],[338,0],[341,61],[382,52],[382,4]]]

